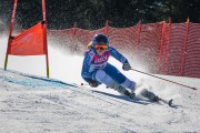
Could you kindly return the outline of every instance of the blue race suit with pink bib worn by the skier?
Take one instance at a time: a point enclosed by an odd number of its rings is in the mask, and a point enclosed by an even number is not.
[[[116,66],[108,63],[110,55],[117,59],[122,64],[128,62],[128,60],[112,47],[109,47],[101,55],[99,55],[93,48],[87,51],[84,53],[84,60],[82,63],[82,72],[81,72],[83,80],[88,83],[90,83],[93,80],[99,84],[109,82],[109,81],[102,82],[97,78],[96,75],[97,73],[103,72],[106,75],[109,75],[116,83],[118,84],[124,83],[124,85],[128,86],[129,89],[134,89],[136,83],[133,81],[127,79]],[[104,75],[103,78],[106,79]],[[104,80],[103,78],[101,79]]]

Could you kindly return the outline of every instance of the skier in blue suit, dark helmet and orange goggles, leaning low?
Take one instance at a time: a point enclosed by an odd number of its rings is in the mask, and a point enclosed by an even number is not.
[[[91,88],[97,88],[103,83],[107,86],[114,89],[120,94],[134,99],[134,91],[138,88],[136,82],[124,76],[116,66],[108,62],[108,59],[111,55],[122,63],[122,69],[124,71],[128,71],[131,69],[131,65],[127,58],[124,58],[113,47],[110,47],[109,39],[101,33],[93,37],[88,49],[89,50],[84,53],[84,60],[82,63],[81,75],[83,80],[88,82]],[[148,94],[146,94],[146,96]],[[152,94],[150,96],[151,99],[154,99],[156,95]]]

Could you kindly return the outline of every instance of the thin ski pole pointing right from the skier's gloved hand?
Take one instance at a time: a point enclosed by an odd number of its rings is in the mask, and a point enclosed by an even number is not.
[[[192,89],[192,90],[197,90],[196,88],[192,88],[192,86],[189,86],[189,85],[184,85],[184,84],[181,84],[181,83],[178,83],[178,82],[174,82],[174,81],[170,81],[170,80],[167,80],[167,79],[163,79],[163,78],[157,76],[157,75],[152,75],[152,74],[149,74],[149,73],[146,73],[146,72],[142,72],[142,71],[136,70],[136,69],[130,69],[130,70],[136,71],[136,72],[143,73],[143,74],[147,74],[147,75],[150,75],[150,76],[153,76],[153,78],[160,79],[160,80],[164,80],[164,81],[168,81],[168,82],[171,82],[171,83],[174,83],[174,84],[181,85],[181,86],[186,86],[186,88],[189,88],[189,89]]]

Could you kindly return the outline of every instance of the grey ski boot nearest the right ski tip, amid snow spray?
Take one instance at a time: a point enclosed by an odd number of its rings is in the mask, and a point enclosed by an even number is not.
[[[147,89],[143,89],[140,94],[153,102],[158,102],[160,100],[153,92],[150,92]]]

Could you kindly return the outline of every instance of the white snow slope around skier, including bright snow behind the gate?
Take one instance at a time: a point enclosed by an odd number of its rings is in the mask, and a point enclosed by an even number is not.
[[[83,57],[69,55],[49,43],[52,79],[44,78],[44,57],[9,55],[4,71],[7,37],[1,37],[0,133],[200,132],[200,79],[158,75],[198,88],[193,91],[133,71],[123,72],[120,63],[109,60],[131,80],[142,80],[142,88],[173,99],[178,106],[132,103],[104,85],[76,85],[83,82]],[[139,64],[132,66],[147,70]]]

